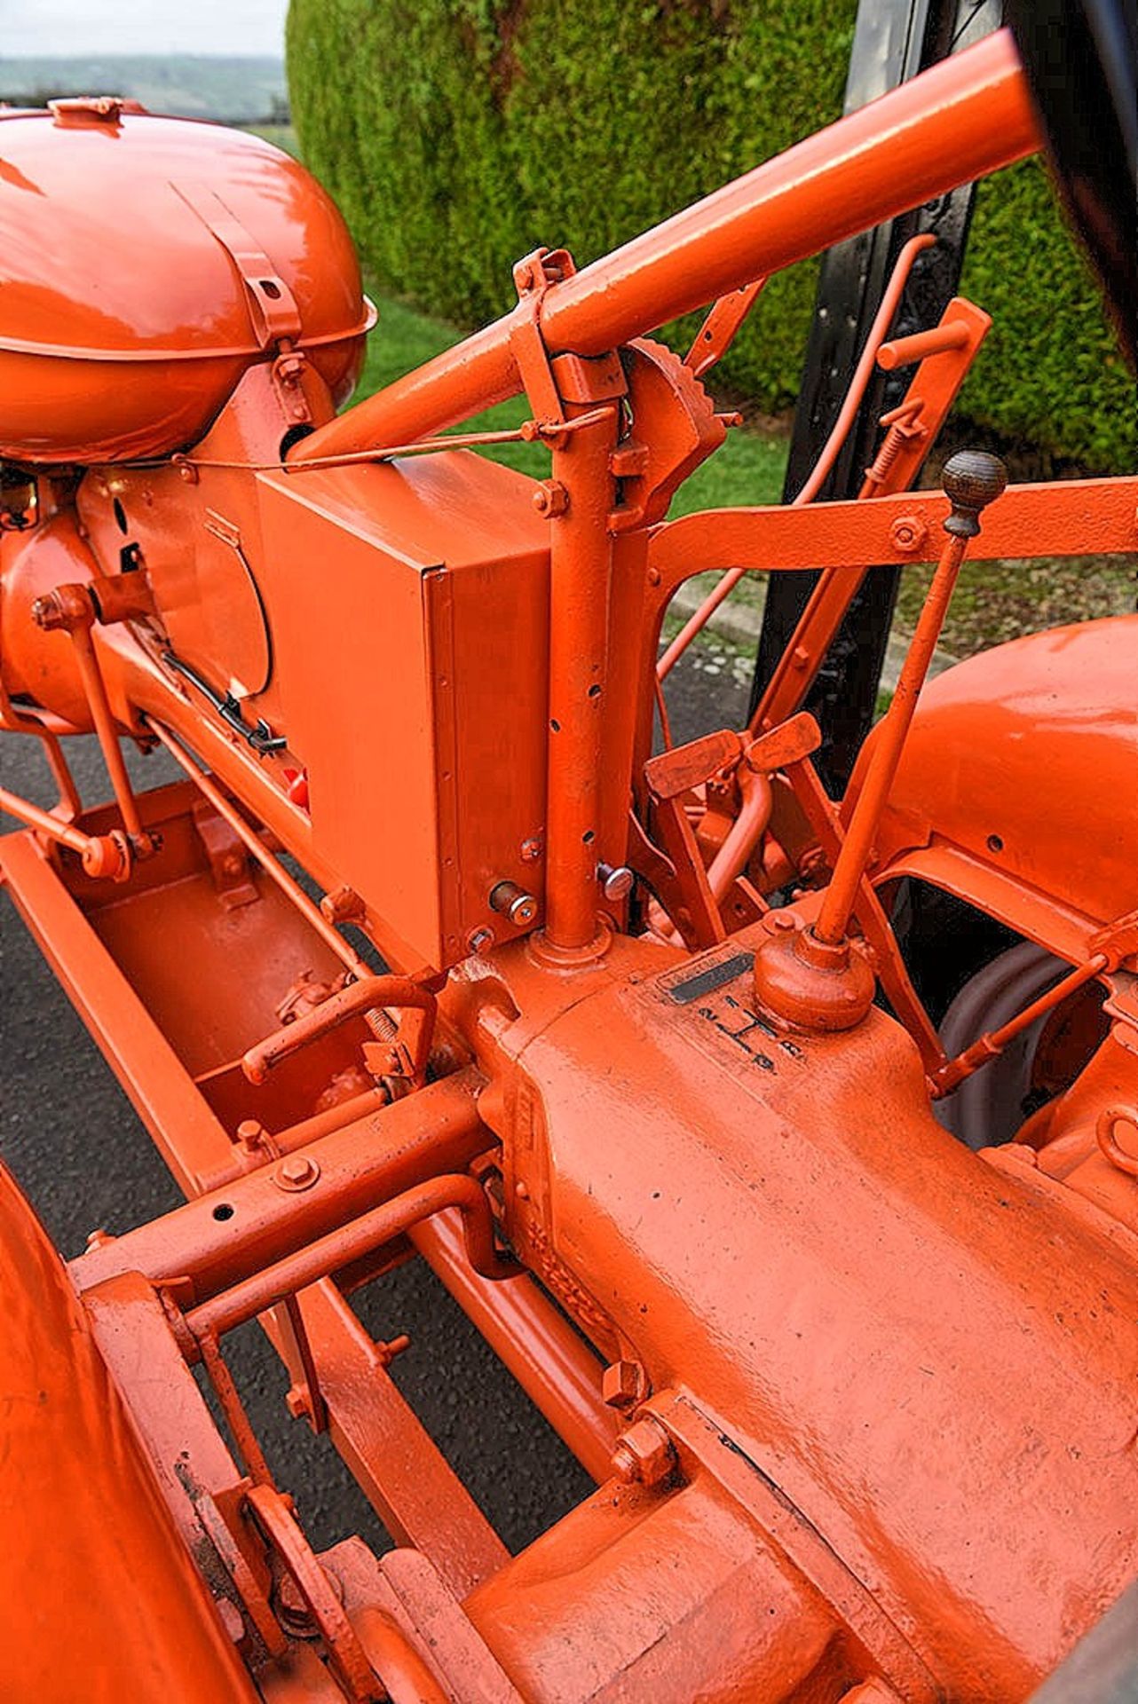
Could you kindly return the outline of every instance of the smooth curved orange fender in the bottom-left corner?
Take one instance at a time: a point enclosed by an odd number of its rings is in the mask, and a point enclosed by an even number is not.
[[[0,1169],[5,1544],[0,1689],[10,1699],[254,1699],[181,1547],[46,1232]],[[189,1678],[187,1678],[189,1677]]]

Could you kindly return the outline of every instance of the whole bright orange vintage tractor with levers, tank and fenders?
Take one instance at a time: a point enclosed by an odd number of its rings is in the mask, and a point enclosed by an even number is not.
[[[1039,145],[997,32],[583,271],[537,250],[337,414],[370,308],[298,164],[0,116],[0,719],[58,782],[0,794],[0,872],[186,1193],[65,1264],[0,1176],[5,1699],[1101,1695],[1063,1675],[1138,1576],[1138,617],[923,682],[966,552],[1133,552],[1138,481],[915,489],[988,327],[954,300],[872,341],[911,378],[857,499],[668,518],[758,281]],[[647,336],[707,303],[687,360]],[[833,799],[802,704],[872,564],[934,573]],[[819,576],[750,724],[675,745],[707,569]],[[353,1309],[409,1259],[596,1481],[516,1556]],[[387,1554],[305,1537],[252,1319]]]

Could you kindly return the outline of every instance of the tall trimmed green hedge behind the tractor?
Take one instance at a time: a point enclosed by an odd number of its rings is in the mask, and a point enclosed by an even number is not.
[[[835,118],[854,10],[291,0],[293,114],[380,286],[475,325],[538,244],[584,264]],[[1128,470],[1133,383],[1037,162],[981,187],[963,290],[997,324],[961,412]],[[797,395],[813,291],[813,262],[773,279],[724,361],[760,409]]]

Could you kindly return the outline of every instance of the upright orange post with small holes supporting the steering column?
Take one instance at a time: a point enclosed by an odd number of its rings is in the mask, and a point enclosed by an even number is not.
[[[596,941],[596,828],[608,687],[613,508],[610,455],[617,411],[581,416],[554,446],[554,486],[567,501],[550,521],[549,852],[545,942],[588,951]]]

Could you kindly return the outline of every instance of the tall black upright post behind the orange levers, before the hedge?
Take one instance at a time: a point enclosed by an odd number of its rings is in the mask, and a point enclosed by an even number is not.
[[[978,41],[1000,24],[1000,0],[860,0],[845,87],[845,111],[876,101],[949,53]],[[838,244],[823,257],[814,320],[794,417],[784,501],[790,501],[821,452],[842,407],[884,286],[901,247],[932,232],[937,247],[917,257],[894,331],[906,336],[935,324],[957,291],[974,189],[966,184],[913,213]],[[819,492],[855,498],[879,443],[879,417],[894,407],[908,375],[877,373],[842,453]],[[867,574],[811,688],[808,709],[823,731],[819,767],[840,791],[848,780],[877,702],[877,685],[898,593],[898,569]],[[775,574],[758,642],[751,709],[770,680],[816,574]]]

